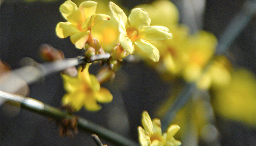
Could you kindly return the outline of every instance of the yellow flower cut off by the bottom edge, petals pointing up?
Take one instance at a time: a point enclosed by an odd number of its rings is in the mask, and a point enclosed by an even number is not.
[[[181,142],[173,136],[180,130],[178,125],[171,125],[167,133],[163,133],[159,119],[151,121],[147,111],[142,113],[142,127],[138,127],[139,142],[141,146],[180,146]]]

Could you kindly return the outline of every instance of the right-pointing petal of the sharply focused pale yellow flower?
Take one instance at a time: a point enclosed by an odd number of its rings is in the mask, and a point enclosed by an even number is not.
[[[140,31],[140,36],[146,40],[163,40],[171,39],[172,34],[169,33],[169,29],[164,26],[146,26]]]

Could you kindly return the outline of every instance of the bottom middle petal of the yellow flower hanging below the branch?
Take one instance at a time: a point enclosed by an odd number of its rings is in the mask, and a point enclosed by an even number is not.
[[[96,101],[95,92],[87,92],[83,103],[86,110],[98,111],[101,109],[101,106]]]

